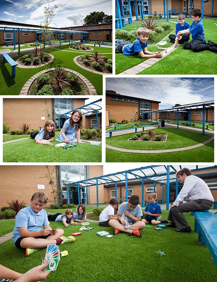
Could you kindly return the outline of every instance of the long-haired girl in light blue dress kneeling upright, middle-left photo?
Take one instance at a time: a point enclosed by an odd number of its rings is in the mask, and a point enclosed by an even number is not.
[[[57,139],[58,142],[65,143],[85,143],[80,141],[80,131],[82,132],[83,128],[82,124],[82,113],[79,110],[75,110],[72,112],[71,117],[64,122],[63,128],[60,131],[60,134]],[[77,134],[77,140],[75,139],[75,131]]]

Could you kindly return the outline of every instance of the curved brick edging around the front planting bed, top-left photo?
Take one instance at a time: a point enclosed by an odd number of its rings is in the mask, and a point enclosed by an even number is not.
[[[28,91],[29,91],[29,87],[32,85],[32,83],[37,79],[37,77],[42,74],[42,73],[46,73],[46,72],[50,72],[53,71],[55,69],[55,67],[52,68],[48,68],[46,70],[43,70],[41,72],[36,73],[35,75],[33,75],[22,87],[20,94],[19,95],[28,95]],[[76,76],[78,76],[85,84],[86,87],[88,88],[90,94],[89,95],[98,95],[98,93],[96,92],[96,89],[94,88],[94,86],[92,85],[91,82],[89,82],[89,80],[84,77],[82,74],[80,74],[79,72],[70,70],[70,69],[65,69],[66,71],[72,72],[74,73]],[[55,95],[55,94],[54,94]],[[59,95],[58,95],[59,96]]]

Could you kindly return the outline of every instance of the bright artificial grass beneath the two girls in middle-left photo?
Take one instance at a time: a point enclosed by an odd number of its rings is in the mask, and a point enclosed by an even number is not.
[[[59,132],[56,133],[53,145],[46,146],[36,144],[35,140],[20,140],[3,145],[3,162],[101,162],[101,144],[91,145],[76,143],[76,147],[64,150],[55,147],[60,142],[55,141]]]

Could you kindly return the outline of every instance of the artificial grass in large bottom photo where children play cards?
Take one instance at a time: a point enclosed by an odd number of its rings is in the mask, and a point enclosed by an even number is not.
[[[161,215],[166,218],[168,211],[163,210]],[[194,216],[190,213],[185,216],[193,229]],[[50,226],[57,228],[59,222],[51,222]],[[64,228],[64,235],[78,232],[79,226]],[[174,228],[158,231],[152,226],[141,230],[141,238],[126,233],[106,238],[96,232],[106,230],[113,234],[113,228],[92,222],[89,227],[94,229],[82,231],[75,242],[59,245],[59,250],[67,250],[68,255],[60,258],[57,270],[52,271],[45,282],[104,282],[115,278],[121,282],[215,281],[217,269],[208,248],[197,243],[198,233],[178,233]],[[157,255],[155,251],[159,249],[166,255]],[[46,248],[25,257],[25,252],[17,249],[12,239],[1,244],[2,265],[22,273],[40,265],[45,253]]]

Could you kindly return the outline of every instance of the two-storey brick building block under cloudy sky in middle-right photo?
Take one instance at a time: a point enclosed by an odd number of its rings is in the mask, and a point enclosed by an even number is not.
[[[144,112],[158,110],[159,103],[160,101],[148,100],[145,97],[142,99],[106,92],[106,126],[109,125],[109,119],[116,121],[142,119]],[[147,118],[147,114],[145,115]],[[157,117],[159,118],[159,113]]]

